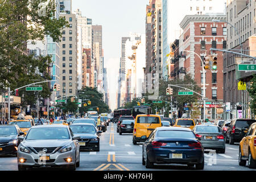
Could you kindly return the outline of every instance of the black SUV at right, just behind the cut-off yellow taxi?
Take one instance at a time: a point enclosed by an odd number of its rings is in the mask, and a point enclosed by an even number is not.
[[[256,122],[255,119],[234,119],[226,131],[226,140],[229,141],[229,144],[240,142],[254,122]]]

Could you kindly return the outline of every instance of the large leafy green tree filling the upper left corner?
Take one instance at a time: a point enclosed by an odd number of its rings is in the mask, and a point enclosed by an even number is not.
[[[0,89],[14,90],[34,82],[31,80],[42,80],[42,75],[49,79],[51,56],[28,55],[27,42],[44,41],[46,35],[60,41],[61,30],[68,22],[55,18],[55,0],[0,0],[0,7]],[[19,90],[19,95],[24,95],[23,105],[51,94],[48,84],[42,86],[43,92],[36,94]]]

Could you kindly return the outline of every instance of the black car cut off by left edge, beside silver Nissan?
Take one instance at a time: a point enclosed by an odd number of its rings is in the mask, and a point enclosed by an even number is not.
[[[18,137],[23,135],[17,125],[0,126],[0,155],[16,155],[19,146]]]

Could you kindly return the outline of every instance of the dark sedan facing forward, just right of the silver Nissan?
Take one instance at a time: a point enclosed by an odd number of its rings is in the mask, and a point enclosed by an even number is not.
[[[96,127],[89,123],[77,123],[70,126],[75,137],[80,137],[80,150],[100,151],[100,137]]]

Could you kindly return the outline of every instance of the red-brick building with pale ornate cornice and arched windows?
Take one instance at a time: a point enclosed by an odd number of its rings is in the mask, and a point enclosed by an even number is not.
[[[184,57],[179,59],[179,68],[184,72],[180,74],[183,78],[185,74],[191,75],[197,85],[202,85],[201,95],[203,95],[203,68],[202,61],[205,51],[207,55],[217,56],[217,69],[207,69],[205,73],[205,88],[207,102],[220,102],[218,107],[223,104],[223,56],[222,52],[212,51],[210,48],[223,49],[226,47],[226,23],[215,23],[212,20],[226,20],[224,14],[206,14],[206,15],[186,15],[180,23],[183,29],[179,39],[179,51],[183,52]],[[191,51],[191,52],[184,52]],[[197,53],[197,56],[195,53]],[[203,101],[200,101],[203,104]],[[213,121],[215,119],[215,109],[207,105],[206,118]],[[217,114],[217,119],[221,119],[222,114]],[[203,108],[201,108],[201,118],[203,119]]]

